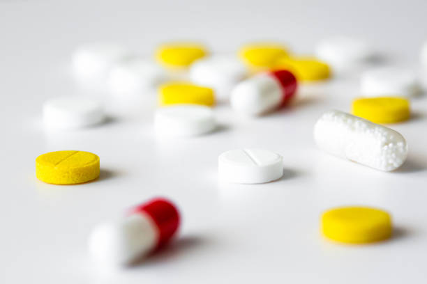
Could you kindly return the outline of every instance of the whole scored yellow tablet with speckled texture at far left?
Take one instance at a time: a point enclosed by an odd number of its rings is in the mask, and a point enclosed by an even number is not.
[[[80,184],[99,176],[99,157],[83,151],[57,151],[36,159],[36,177],[51,184]]]

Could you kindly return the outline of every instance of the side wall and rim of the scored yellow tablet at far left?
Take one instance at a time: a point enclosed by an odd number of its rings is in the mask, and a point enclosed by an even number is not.
[[[63,152],[63,151],[55,151]],[[83,166],[69,168],[52,167],[43,162],[44,155],[50,155],[54,152],[47,152],[36,158],[36,178],[48,184],[82,184],[95,180],[100,175],[100,159],[98,155],[91,152],[76,151],[88,153],[96,157],[95,161]]]

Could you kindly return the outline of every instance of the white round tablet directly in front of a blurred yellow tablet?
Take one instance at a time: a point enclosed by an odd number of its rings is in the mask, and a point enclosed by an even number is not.
[[[198,104],[176,104],[162,107],[154,116],[158,134],[167,136],[197,136],[213,131],[216,120],[209,107]]]

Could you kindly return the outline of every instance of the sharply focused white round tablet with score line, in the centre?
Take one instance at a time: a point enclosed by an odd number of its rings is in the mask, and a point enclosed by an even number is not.
[[[278,180],[283,175],[282,156],[269,150],[242,149],[223,152],[218,157],[220,180],[257,184]]]

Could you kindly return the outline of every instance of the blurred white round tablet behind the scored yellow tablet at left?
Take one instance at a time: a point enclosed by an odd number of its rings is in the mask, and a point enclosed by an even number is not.
[[[56,97],[43,104],[43,122],[52,129],[76,129],[102,123],[103,104],[87,97]]]

